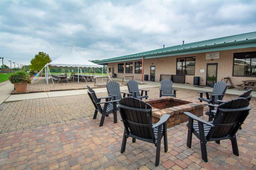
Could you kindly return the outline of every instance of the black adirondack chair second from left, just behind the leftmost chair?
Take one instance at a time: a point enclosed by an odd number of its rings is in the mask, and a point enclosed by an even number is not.
[[[108,91],[108,96],[111,96],[112,100],[121,100],[122,99],[121,94],[123,94],[123,97],[125,97],[125,95],[131,96],[130,93],[120,92],[120,85],[118,82],[113,82],[113,81],[108,82],[107,91]]]

